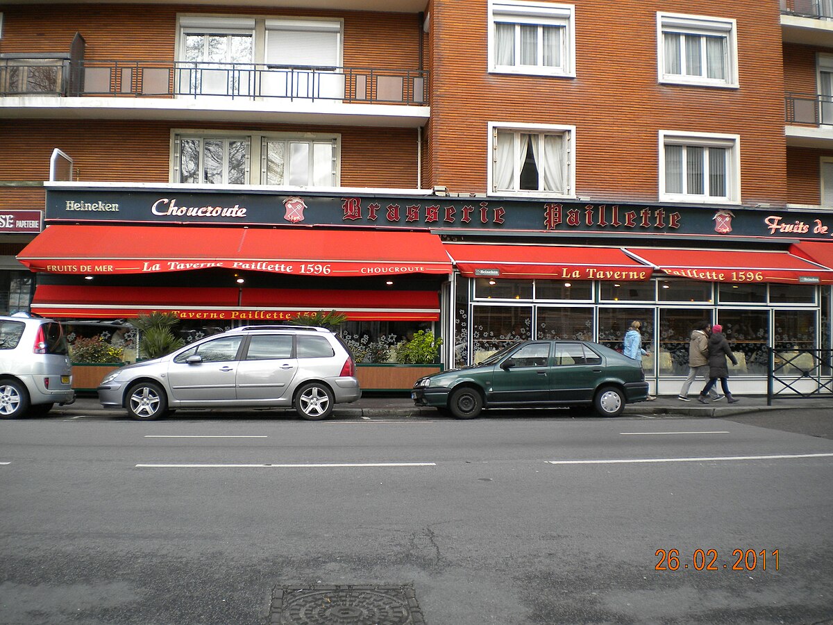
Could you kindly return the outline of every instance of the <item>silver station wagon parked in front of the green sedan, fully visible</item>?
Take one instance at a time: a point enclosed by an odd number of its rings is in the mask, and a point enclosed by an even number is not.
[[[309,326],[247,326],[128,365],[98,387],[106,408],[134,419],[175,408],[295,408],[318,421],[362,397],[356,361],[336,334]]]

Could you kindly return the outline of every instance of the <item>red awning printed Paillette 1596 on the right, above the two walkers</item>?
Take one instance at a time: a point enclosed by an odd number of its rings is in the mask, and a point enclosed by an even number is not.
[[[628,248],[670,276],[716,283],[833,283],[833,270],[779,251]]]

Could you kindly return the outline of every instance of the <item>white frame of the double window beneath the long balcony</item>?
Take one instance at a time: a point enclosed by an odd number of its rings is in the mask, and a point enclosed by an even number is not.
[[[249,156],[246,167],[246,182],[242,184],[208,184],[208,183],[180,183],[179,182],[179,143],[182,138],[198,138],[205,139],[243,139],[249,142]],[[335,182],[336,188],[341,187],[342,184],[342,136],[337,133],[263,133],[260,131],[250,130],[215,130],[211,128],[174,128],[170,135],[170,169],[168,172],[168,179],[172,184],[188,184],[189,186],[200,186],[203,188],[217,189],[220,187],[227,187],[233,189],[240,189],[242,186],[266,186],[266,175],[263,172],[262,161],[262,145],[268,139],[287,140],[293,138],[301,138],[310,142],[332,142],[335,149],[335,158],[333,167],[335,168]],[[227,174],[226,174],[227,175]],[[296,188],[289,185],[269,185],[269,188],[287,188],[287,189],[325,189],[328,187],[304,187]]]

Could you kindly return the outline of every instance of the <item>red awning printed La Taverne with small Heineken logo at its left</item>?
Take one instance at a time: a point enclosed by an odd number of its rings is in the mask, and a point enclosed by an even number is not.
[[[571,280],[648,280],[651,267],[620,248],[444,243],[464,276]]]

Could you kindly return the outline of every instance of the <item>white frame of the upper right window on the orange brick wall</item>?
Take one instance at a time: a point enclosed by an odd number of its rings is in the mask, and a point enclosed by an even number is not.
[[[710,78],[672,74],[666,71],[665,32],[681,35],[726,37],[724,63],[726,77]],[[699,87],[740,87],[738,82],[737,23],[731,18],[711,18],[681,13],[656,13],[656,67],[657,81],[668,84],[696,85]],[[705,64],[703,65],[705,70]]]

